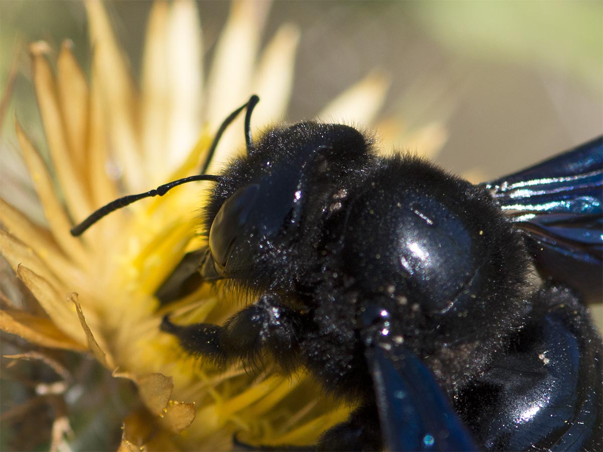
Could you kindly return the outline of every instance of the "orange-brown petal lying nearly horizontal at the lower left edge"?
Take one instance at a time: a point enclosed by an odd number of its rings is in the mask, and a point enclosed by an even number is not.
[[[16,310],[0,311],[0,328],[11,334],[17,334],[33,344],[49,348],[85,351],[86,346],[75,342],[63,331],[58,330],[50,319],[37,317]]]

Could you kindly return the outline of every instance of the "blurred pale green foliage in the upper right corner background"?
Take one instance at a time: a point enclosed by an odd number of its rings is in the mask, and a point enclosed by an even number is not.
[[[453,52],[510,60],[603,91],[603,3],[594,1],[416,2],[431,36]]]

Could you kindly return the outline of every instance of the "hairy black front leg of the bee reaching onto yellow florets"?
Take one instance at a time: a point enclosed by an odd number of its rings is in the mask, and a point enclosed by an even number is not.
[[[273,294],[262,295],[256,303],[233,315],[223,327],[212,324],[176,325],[168,316],[161,329],[180,339],[189,353],[206,356],[218,363],[242,359],[254,365],[262,351],[271,353],[286,370],[294,367],[301,321]]]

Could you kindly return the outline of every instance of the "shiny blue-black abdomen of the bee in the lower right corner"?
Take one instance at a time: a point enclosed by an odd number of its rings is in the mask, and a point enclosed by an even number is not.
[[[601,337],[569,289],[544,287],[533,301],[457,410],[485,450],[602,450]]]

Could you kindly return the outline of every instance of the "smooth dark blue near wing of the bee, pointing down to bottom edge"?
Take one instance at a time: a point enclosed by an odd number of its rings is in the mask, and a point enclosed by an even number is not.
[[[429,369],[405,347],[385,341],[365,349],[385,450],[476,450]]]

